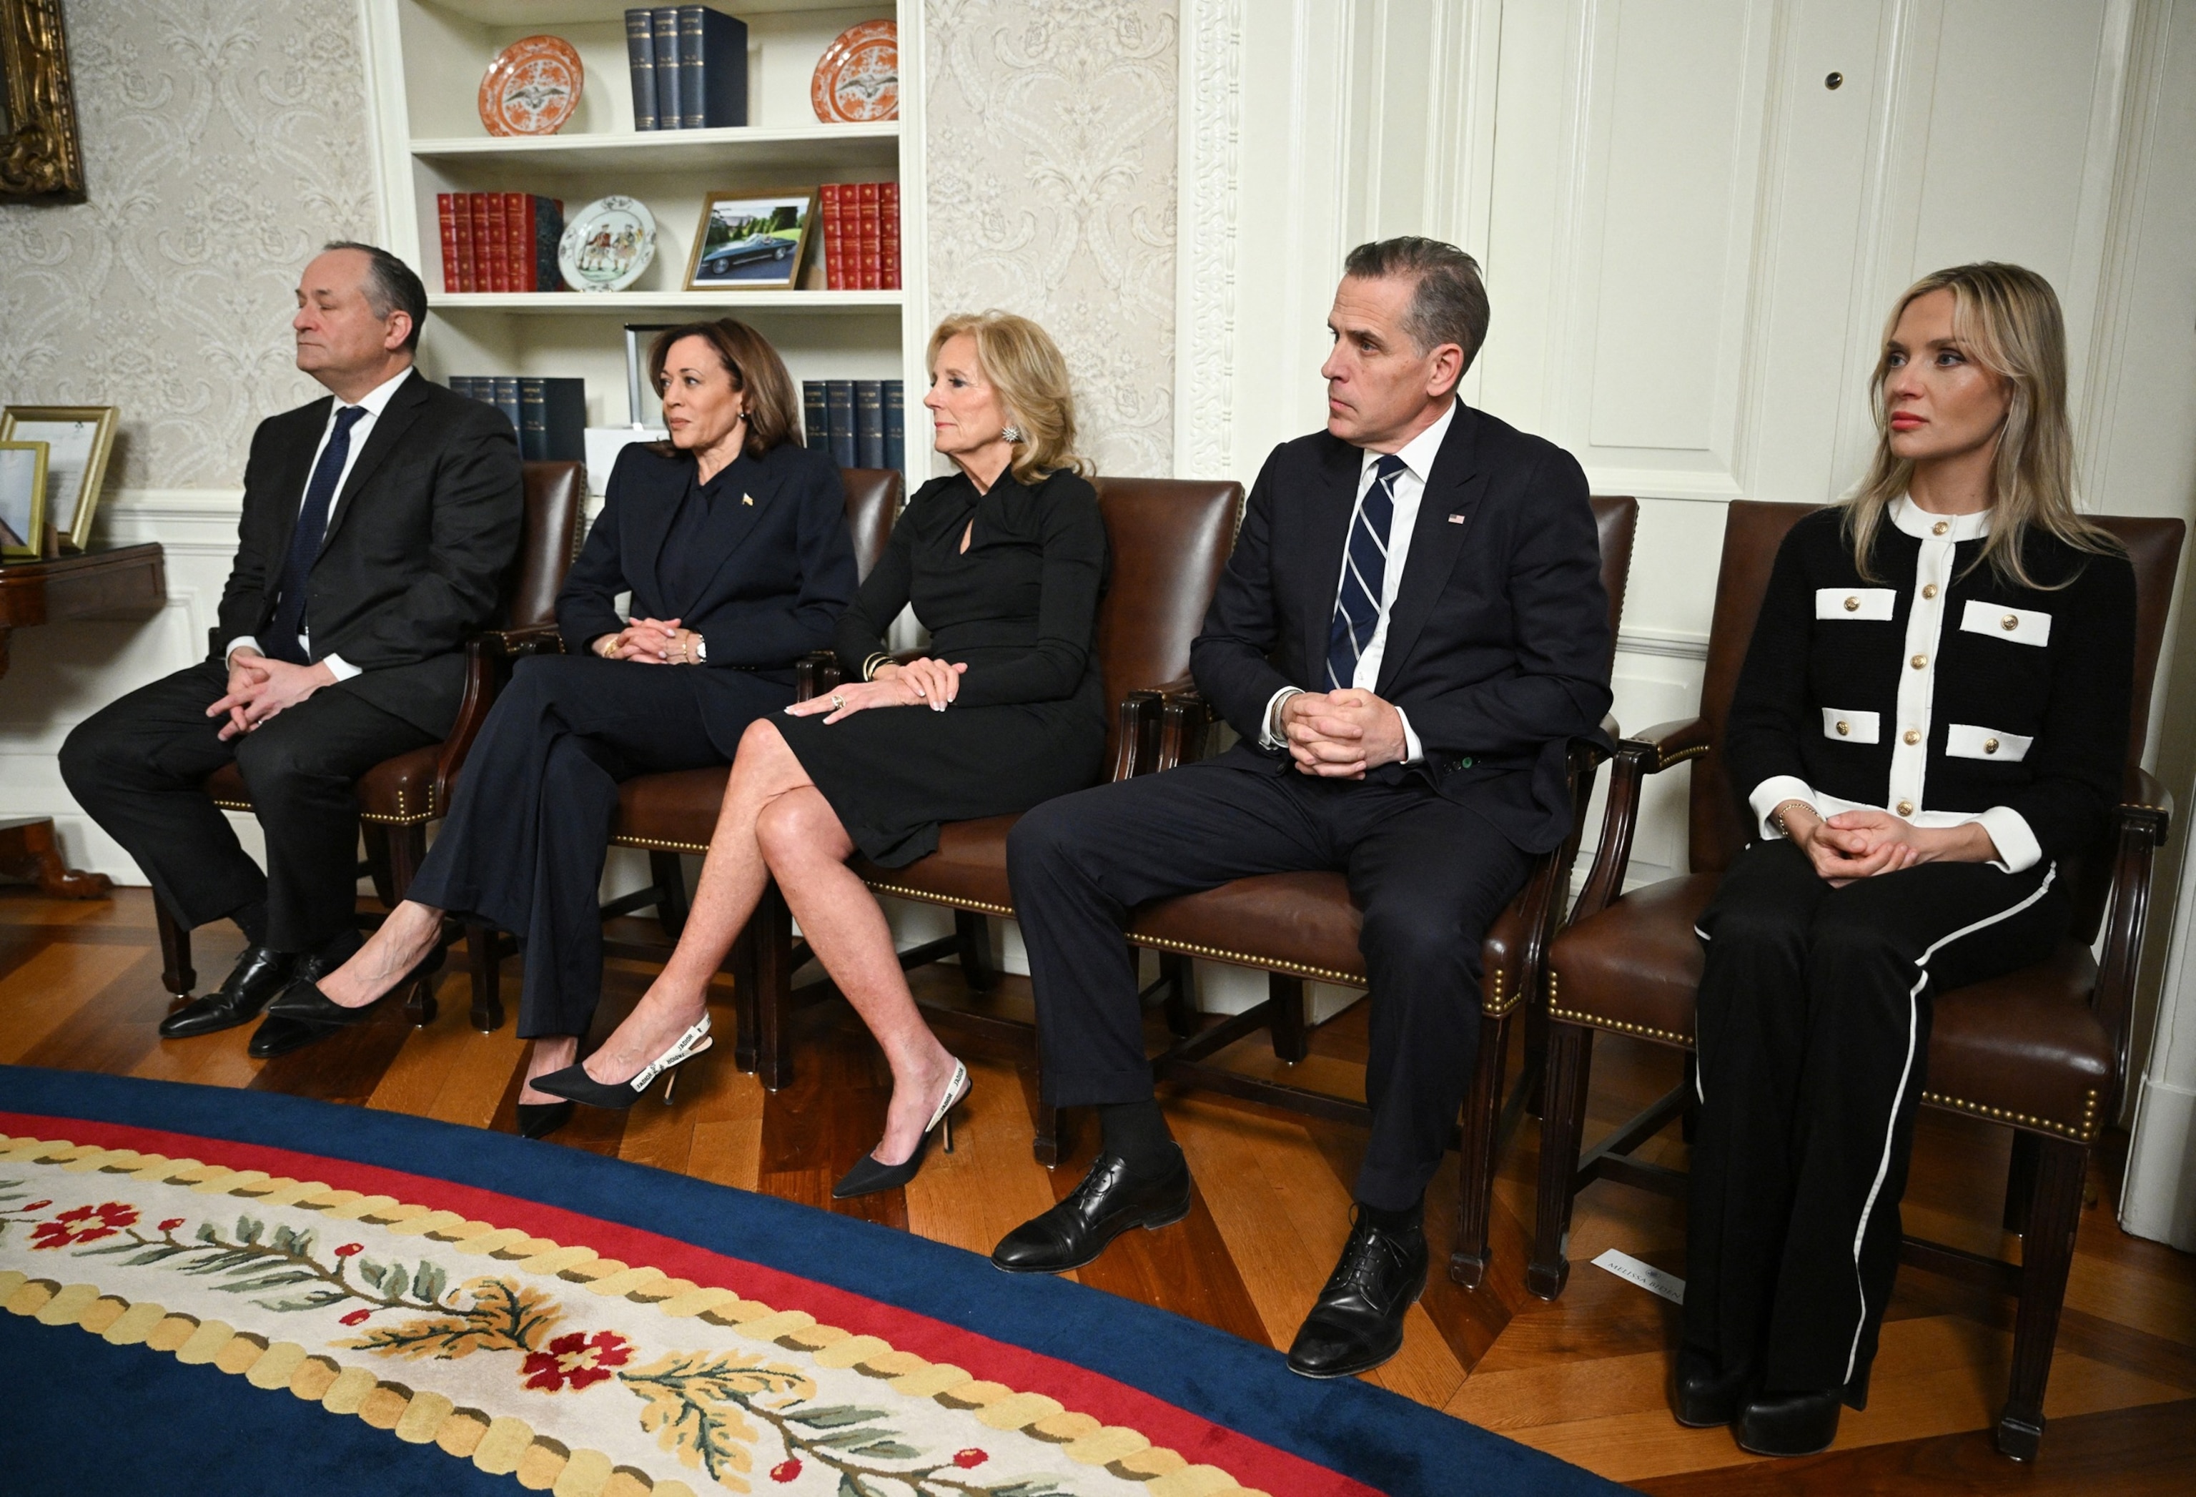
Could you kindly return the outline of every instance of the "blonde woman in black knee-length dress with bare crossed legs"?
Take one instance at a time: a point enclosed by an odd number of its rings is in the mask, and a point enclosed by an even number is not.
[[[839,661],[854,680],[747,731],[679,950],[584,1067],[538,1082],[630,1106],[707,1023],[709,975],[775,876],[892,1062],[885,1139],[837,1196],[911,1179],[931,1130],[968,1091],[966,1069],[916,1012],[885,913],[845,858],[914,863],[938,847],[940,821],[1080,790],[1105,757],[1094,637],[1107,536],[1072,454],[1067,367],[1041,327],[1004,312],[946,318],[929,364],[922,404],[960,472],[916,492],[839,621]],[[885,654],[885,630],[907,604],[931,643],[900,665]]]

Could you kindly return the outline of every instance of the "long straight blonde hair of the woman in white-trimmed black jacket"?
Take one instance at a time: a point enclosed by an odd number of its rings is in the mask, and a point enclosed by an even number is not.
[[[2025,588],[2062,588],[2073,577],[2040,584],[2023,564],[2020,549],[2031,527],[2058,536],[2075,551],[2117,555],[2121,547],[2075,511],[2073,428],[2066,419],[2066,323],[2060,316],[2058,294],[2033,270],[1996,261],[1930,272],[1908,285],[1891,307],[1884,347],[1869,382],[1875,457],[1845,505],[1845,536],[1853,547],[1853,564],[1869,577],[1869,553],[1884,514],[1913,481],[1913,461],[1891,450],[1884,380],[1891,373],[1891,338],[1900,318],[1930,292],[1952,292],[1952,334],[1968,358],[1998,375],[2007,389],[2005,424],[1998,428],[1990,468],[1990,536],[1976,564],[1990,562],[2003,582]]]

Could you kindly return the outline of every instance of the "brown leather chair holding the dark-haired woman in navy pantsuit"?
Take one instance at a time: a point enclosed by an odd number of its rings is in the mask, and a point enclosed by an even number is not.
[[[876,566],[876,558],[885,553],[885,538],[892,536],[892,522],[907,500],[907,481],[896,468],[841,468],[839,479],[845,485],[845,522],[854,533],[854,569],[867,577],[870,569]],[[553,650],[562,650],[562,643],[558,641]],[[604,920],[654,909],[663,935],[679,939],[687,911],[685,869],[679,863],[679,854],[709,852],[709,832],[716,830],[716,810],[725,799],[725,779],[729,775],[731,768],[718,764],[712,768],[672,770],[668,775],[637,775],[619,786],[610,843],[643,849],[648,854],[650,882],[646,889],[635,889],[604,904]],[[466,948],[472,953],[472,1027],[483,1032],[501,1029],[501,961],[516,944],[507,935],[468,924]],[[604,955],[663,961],[668,948],[661,944],[610,939],[604,942]],[[744,961],[744,946],[736,948],[733,957]],[[740,986],[742,1010],[747,1008],[749,988],[751,983]],[[753,1069],[749,1029],[751,1025],[740,1025],[738,1047],[742,1069]],[[670,1089],[665,1089],[668,1100]]]

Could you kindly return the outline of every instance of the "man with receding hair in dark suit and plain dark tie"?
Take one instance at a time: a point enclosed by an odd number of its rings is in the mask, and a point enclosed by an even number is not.
[[[70,792],[154,896],[184,926],[244,931],[228,981],[169,1014],[167,1038],[242,1025],[358,946],[354,781],[450,731],[466,637],[516,555],[518,439],[413,369],[424,320],[419,277],[386,250],[332,244],[305,266],[296,367],[332,395],[253,432],[217,652],[61,744]],[[200,790],[231,759],[264,874]]]

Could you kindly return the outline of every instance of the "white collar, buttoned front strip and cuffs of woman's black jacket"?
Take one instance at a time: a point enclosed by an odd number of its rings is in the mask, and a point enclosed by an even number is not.
[[[1990,860],[1992,867],[2025,874],[2042,863],[2044,854],[2029,819],[2018,810],[2012,806],[1992,806],[1979,812],[1928,810],[1924,799],[1930,713],[1937,705],[1937,645],[1943,637],[1943,610],[1952,590],[1952,551],[1963,540],[1981,540],[1990,533],[1990,511],[1939,516],[1900,496],[1884,518],[1922,542],[1922,555],[1915,558],[1913,604],[1906,615],[1906,654],[1922,665],[1900,672],[1900,731],[1891,740],[1891,781],[1884,786],[1884,803],[1847,801],[1816,790],[1799,775],[1770,775],[1752,788],[1746,801],[1759,821],[1761,836],[1783,834],[1774,812],[1785,801],[1801,801],[1825,819],[1842,810],[1884,810],[1917,828],[1959,828],[1981,821],[1998,849],[1998,856]]]

